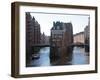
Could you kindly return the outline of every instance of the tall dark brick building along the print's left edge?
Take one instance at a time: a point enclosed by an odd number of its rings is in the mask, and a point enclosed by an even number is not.
[[[40,24],[26,12],[26,62],[30,62],[32,56],[32,46],[40,44]]]

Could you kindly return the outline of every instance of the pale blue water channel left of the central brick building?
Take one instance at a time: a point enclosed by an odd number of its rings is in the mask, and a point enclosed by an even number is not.
[[[50,48],[44,47],[39,51],[40,58],[31,61],[30,66],[50,66]]]

